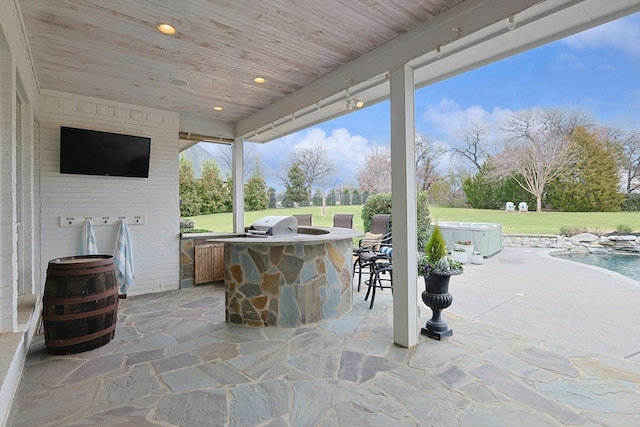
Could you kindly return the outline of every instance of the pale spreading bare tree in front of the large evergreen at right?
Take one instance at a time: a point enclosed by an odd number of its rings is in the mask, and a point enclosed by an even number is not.
[[[496,156],[496,172],[511,176],[536,198],[542,211],[546,185],[571,167],[580,149],[569,138],[578,125],[588,126],[586,116],[557,110],[523,110],[502,126],[504,149]]]

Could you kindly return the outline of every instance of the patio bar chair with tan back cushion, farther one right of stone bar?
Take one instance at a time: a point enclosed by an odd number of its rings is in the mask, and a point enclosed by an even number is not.
[[[365,233],[358,242],[358,246],[353,248],[353,276],[358,274],[358,292],[362,285],[362,275],[371,273],[371,264],[376,258],[376,252],[380,245],[391,244],[391,215],[375,214],[371,219],[371,230]]]

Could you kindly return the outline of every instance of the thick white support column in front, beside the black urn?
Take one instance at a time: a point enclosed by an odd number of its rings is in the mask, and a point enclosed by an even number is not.
[[[413,68],[391,71],[393,340],[418,344],[416,155]]]

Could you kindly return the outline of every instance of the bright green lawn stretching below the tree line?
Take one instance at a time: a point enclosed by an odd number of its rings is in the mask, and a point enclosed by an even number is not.
[[[245,212],[245,225],[251,225],[256,219],[267,215],[293,215],[312,213],[313,225],[330,227],[333,214],[354,213],[354,228],[362,230],[360,211],[362,206],[327,206],[322,214],[321,207],[269,209],[258,212]],[[488,222],[502,224],[503,234],[559,234],[561,228],[575,227],[590,232],[615,231],[618,226],[630,227],[640,232],[640,212],[505,212],[489,209],[458,209],[431,206],[431,220],[436,222]],[[192,217],[196,228],[211,231],[231,231],[230,213],[201,215]]]

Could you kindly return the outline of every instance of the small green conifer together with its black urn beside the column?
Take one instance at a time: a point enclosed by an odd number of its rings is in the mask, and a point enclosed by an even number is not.
[[[429,338],[442,340],[453,335],[442,320],[442,310],[453,302],[449,293],[449,279],[463,272],[462,263],[448,257],[447,244],[439,226],[434,226],[425,246],[425,254],[418,260],[418,275],[424,277],[425,290],[422,301],[431,308],[433,315],[421,333]]]

